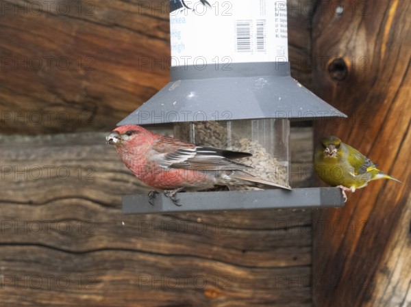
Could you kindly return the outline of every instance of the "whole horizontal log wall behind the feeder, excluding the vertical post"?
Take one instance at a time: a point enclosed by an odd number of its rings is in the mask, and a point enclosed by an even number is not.
[[[164,2],[1,2],[2,304],[311,306],[309,211],[121,212],[142,187],[104,137],[169,81]],[[289,4],[292,75],[310,88],[313,5]],[[294,187],[311,137],[292,135]]]

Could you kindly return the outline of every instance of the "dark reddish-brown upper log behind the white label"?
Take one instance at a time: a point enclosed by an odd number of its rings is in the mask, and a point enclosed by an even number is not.
[[[3,133],[112,129],[169,82],[168,3],[2,3]],[[310,1],[290,1],[292,75],[308,86],[310,16]]]

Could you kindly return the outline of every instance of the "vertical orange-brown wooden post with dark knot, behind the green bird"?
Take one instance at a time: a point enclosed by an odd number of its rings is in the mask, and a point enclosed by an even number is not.
[[[319,1],[314,92],[345,112],[316,123],[399,178],[314,213],[314,306],[411,304],[411,2]]]

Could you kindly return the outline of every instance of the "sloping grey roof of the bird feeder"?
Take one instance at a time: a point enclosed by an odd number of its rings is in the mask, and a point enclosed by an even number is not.
[[[347,117],[290,77],[289,62],[177,66],[171,82],[119,122]]]

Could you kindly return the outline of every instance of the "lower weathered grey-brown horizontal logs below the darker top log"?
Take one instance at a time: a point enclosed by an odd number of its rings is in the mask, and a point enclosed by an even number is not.
[[[295,167],[312,170],[298,150],[312,131],[294,132]],[[142,189],[105,133],[0,150],[2,304],[311,306],[310,212],[123,215],[121,195]]]

